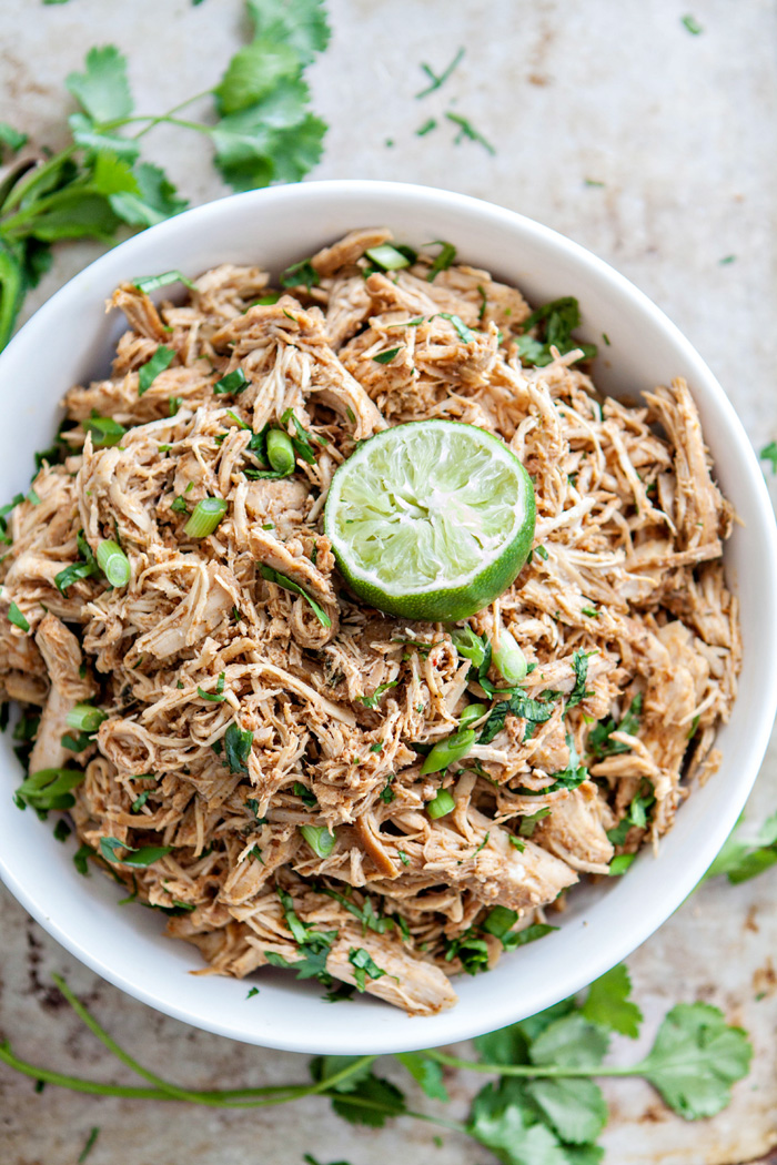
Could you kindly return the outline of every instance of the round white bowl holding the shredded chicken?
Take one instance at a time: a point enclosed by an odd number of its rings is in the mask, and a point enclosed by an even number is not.
[[[534,303],[579,298],[584,333],[612,346],[596,361],[614,395],[685,376],[699,405],[719,481],[742,520],[726,548],[729,585],[741,601],[744,641],[740,694],[720,730],[720,771],[678,812],[656,859],[570,896],[560,930],[503,958],[495,970],[457,980],[458,1005],[405,1018],[377,1000],[332,1007],[317,984],[267,969],[260,994],[231,979],[193,976],[189,945],[163,934],[161,916],[118,906],[119,888],[93,870],[82,877],[72,845],[51,822],[20,813],[12,741],[2,737],[0,873],[27,910],[72,954],[168,1015],[233,1039],[296,1052],[361,1054],[429,1047],[532,1015],[601,975],[643,942],[691,892],[734,826],[763,758],[777,707],[777,555],[761,469],[737,416],[701,358],[631,283],[577,243],[511,211],[424,186],[312,182],[235,195],[189,211],[108,252],[58,291],[0,356],[3,425],[0,499],[26,488],[33,451],[50,444],[57,401],[73,383],[107,370],[121,320],[104,313],[123,280],[179,268],[189,275],[224,261],[278,271],[358,226],[390,226],[400,239],[453,242],[462,260],[488,268]],[[72,839],[71,839],[72,841]]]

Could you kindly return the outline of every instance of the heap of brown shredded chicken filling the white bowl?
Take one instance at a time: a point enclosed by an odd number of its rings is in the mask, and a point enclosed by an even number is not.
[[[451,975],[543,933],[581,875],[671,827],[718,763],[741,641],[733,515],[685,382],[627,405],[598,396],[580,351],[522,366],[520,291],[423,255],[375,270],[365,250],[390,239],[354,231],[278,295],[234,264],[181,302],[115,292],[129,330],[111,376],[66,393],[62,457],[8,518],[0,605],[23,620],[0,620],[0,690],[23,706],[30,771],[83,768],[80,842],[209,970],[296,967],[430,1015],[455,1002]],[[174,358],[142,390],[160,345]],[[359,601],[322,532],[355,444],[430,417],[495,433],[532,475],[532,555],[468,626],[513,634],[537,719],[492,720],[499,671],[450,627]],[[297,443],[285,480],[254,438],[268,424]],[[206,497],[226,514],[196,538]],[[105,539],[126,586],[93,563]],[[471,754],[422,775],[472,700],[489,712]],[[105,719],[73,740],[84,702]],[[454,807],[432,819],[440,789]],[[162,855],[122,864],[148,847]]]

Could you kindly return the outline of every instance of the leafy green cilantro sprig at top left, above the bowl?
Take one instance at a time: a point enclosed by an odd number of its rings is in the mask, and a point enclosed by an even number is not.
[[[164,170],[141,158],[144,135],[160,125],[203,136],[233,190],[298,182],[319,161],[326,123],[310,110],[305,70],[329,42],[323,0],[248,0],[252,41],[228,62],[217,85],[158,114],[136,114],[127,61],[113,44],[89,50],[65,86],[78,103],[70,141],[37,158],[21,157],[0,188],[0,350],[26,294],[51,264],[51,245],[90,238],[111,243],[127,227],[178,214],[188,200]],[[203,97],[213,115],[182,115]],[[0,149],[15,154],[26,134],[0,123]],[[176,274],[177,273],[168,273]],[[146,280],[143,290],[162,287]],[[165,278],[165,282],[167,278]]]

